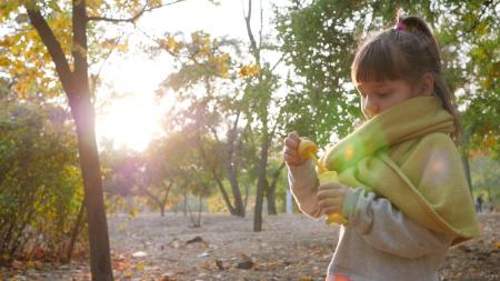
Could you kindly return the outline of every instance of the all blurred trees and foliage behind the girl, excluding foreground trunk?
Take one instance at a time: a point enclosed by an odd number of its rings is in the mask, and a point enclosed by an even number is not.
[[[108,213],[133,218],[142,211],[172,212],[187,215],[196,227],[202,227],[207,211],[250,214],[253,230],[260,231],[262,213],[286,210],[282,139],[296,130],[323,147],[353,130],[361,120],[350,82],[356,48],[367,33],[393,26],[398,8],[422,16],[434,30],[463,118],[460,149],[470,163],[473,194],[483,193],[498,208],[498,1],[290,0],[270,9],[244,1],[234,11],[242,22],[243,37],[238,39],[203,30],[164,30],[160,36],[139,28],[106,32],[111,24],[106,17],[129,19],[168,6],[126,2],[110,7],[88,1],[89,17],[96,20],[87,26],[90,67],[83,79],[89,107],[99,114],[113,102],[114,96],[97,96],[109,91],[100,63],[113,52],[127,52],[127,32],[147,36],[137,52],[171,64],[157,87],[158,104],[168,100],[170,106],[161,133],[144,150],[101,140],[98,168]],[[81,234],[87,217],[76,122],[54,63],[22,3],[2,3],[0,17],[0,262],[4,264],[13,257],[34,255],[37,249],[67,260],[74,238],[88,243]],[[71,7],[44,3],[38,8],[73,68],[73,54],[81,52],[71,38]]]

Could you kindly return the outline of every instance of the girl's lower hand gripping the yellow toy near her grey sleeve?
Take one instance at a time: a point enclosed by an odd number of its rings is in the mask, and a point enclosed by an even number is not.
[[[321,212],[327,215],[341,213],[348,189],[348,187],[338,182],[320,184],[316,195],[318,197]]]

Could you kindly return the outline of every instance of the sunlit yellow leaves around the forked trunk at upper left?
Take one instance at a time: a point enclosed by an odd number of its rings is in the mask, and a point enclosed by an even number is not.
[[[148,7],[158,6],[147,1]],[[144,9],[143,1],[88,0],[89,17],[130,18]],[[128,41],[122,36],[108,34],[103,24],[88,23],[88,49],[72,42],[71,1],[2,1],[0,21],[0,73],[11,82],[13,94],[20,99],[52,98],[62,94],[52,58],[39,34],[31,27],[26,7],[37,9],[47,20],[72,69],[73,56],[88,56],[90,66],[101,62],[111,51],[127,52]],[[113,23],[108,23],[113,24]],[[106,36],[104,36],[106,34]]]

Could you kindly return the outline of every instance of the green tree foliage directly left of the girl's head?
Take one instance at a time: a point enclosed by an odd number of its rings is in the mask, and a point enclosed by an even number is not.
[[[363,20],[353,12],[360,7],[352,1],[322,0],[309,6],[292,1],[277,11],[281,50],[294,70],[287,82],[291,88],[287,131],[326,143],[332,130],[344,136],[359,117],[353,87],[347,90],[344,84],[350,81],[354,36]]]

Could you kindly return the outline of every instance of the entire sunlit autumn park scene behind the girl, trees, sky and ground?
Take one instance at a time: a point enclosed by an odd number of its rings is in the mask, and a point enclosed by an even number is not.
[[[399,8],[440,42],[484,199],[441,275],[498,278],[499,1],[0,8],[0,279],[322,280],[338,228],[291,203],[282,140],[352,131],[357,44]]]

